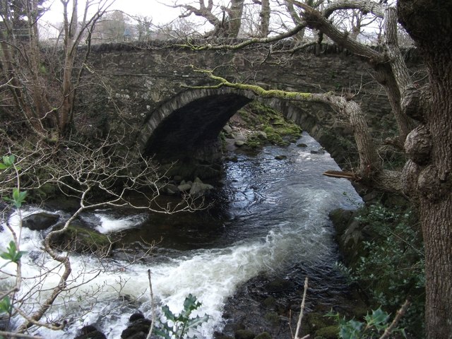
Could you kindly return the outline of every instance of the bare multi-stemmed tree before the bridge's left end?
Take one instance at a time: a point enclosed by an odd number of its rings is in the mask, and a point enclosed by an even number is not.
[[[3,21],[0,27],[1,78],[6,84],[1,91],[1,105],[10,116],[17,112],[22,114],[16,120],[22,119],[30,129],[44,137],[50,137],[54,132],[60,136],[69,132],[93,28],[114,2],[86,0],[82,4],[79,0],[60,1],[64,11],[59,37],[64,56],[57,79],[47,76],[50,65],[40,50],[37,20],[44,11],[43,1],[2,1],[0,13]],[[83,8],[81,13],[79,8]],[[94,14],[90,15],[93,11]],[[77,48],[85,42],[88,48],[79,60]],[[55,59],[59,59],[57,54]]]

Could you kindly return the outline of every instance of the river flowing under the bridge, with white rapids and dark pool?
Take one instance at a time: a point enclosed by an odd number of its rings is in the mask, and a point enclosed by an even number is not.
[[[262,273],[284,271],[294,263],[307,270],[334,263],[337,254],[328,212],[355,208],[361,200],[347,180],[322,175],[338,166],[328,153],[311,154],[310,150],[320,147],[314,139],[304,135],[301,141],[308,147],[268,146],[256,156],[238,155],[237,162],[227,162],[219,209],[169,217],[117,210],[83,215],[85,224],[112,239],[121,234],[124,253],[115,250],[113,258],[101,260],[74,256],[71,284],[80,287],[60,299],[49,314],[54,319],[72,314],[71,326],[36,333],[44,338],[73,338],[81,326],[95,324],[107,338],[120,338],[133,312],[139,309],[150,316],[150,270],[156,302],[178,312],[185,297],[195,295],[202,302],[197,314],[210,316],[198,338],[213,338],[213,332],[224,326],[222,311],[227,298],[240,285]],[[276,155],[287,158],[275,160]],[[17,220],[17,215],[11,217],[11,224],[18,224]],[[27,251],[23,290],[36,292],[42,284],[57,284],[61,268],[40,251],[42,234],[25,228],[21,232],[20,249]],[[5,229],[0,249],[5,249],[10,239]],[[148,256],[145,251],[150,243],[159,239],[152,257]],[[130,262],[131,254],[144,258]],[[0,259],[0,266],[3,263]],[[42,266],[51,271],[46,281],[39,278]],[[100,267],[105,273],[97,275]],[[14,267],[9,264],[4,270],[13,273]],[[310,275],[315,278],[315,270]],[[5,285],[4,280],[0,283]]]

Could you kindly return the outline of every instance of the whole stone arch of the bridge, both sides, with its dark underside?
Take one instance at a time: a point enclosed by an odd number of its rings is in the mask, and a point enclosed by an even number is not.
[[[261,101],[295,121],[316,138],[336,162],[343,160],[343,150],[338,149],[338,142],[333,138],[335,132],[331,130],[333,127],[338,131],[338,126],[326,105],[261,98],[249,91],[230,88],[186,90],[166,102],[146,119],[138,137],[141,152],[162,164],[177,161],[179,170],[186,169],[178,173],[183,176],[214,177],[207,168],[222,156],[218,134],[227,121],[252,100]],[[323,112],[320,117],[319,112]]]

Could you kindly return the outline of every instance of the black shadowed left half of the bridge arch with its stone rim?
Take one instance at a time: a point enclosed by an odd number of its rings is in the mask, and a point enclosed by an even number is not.
[[[253,93],[232,88],[179,93],[147,117],[138,136],[140,150],[157,158],[206,156],[230,117],[252,100]]]

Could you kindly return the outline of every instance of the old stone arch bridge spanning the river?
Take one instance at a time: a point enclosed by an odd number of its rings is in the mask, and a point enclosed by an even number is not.
[[[100,85],[90,86],[85,95],[95,97],[91,108],[103,117],[98,128],[125,126],[131,145],[167,161],[206,160],[222,126],[251,100],[262,100],[302,126],[338,163],[347,151],[352,131],[330,107],[263,100],[230,88],[190,89],[215,85],[194,69],[213,69],[230,81],[263,88],[356,93],[374,133],[394,126],[383,89],[359,57],[328,44],[290,49],[288,42],[220,51],[193,51],[168,42],[102,44],[93,47],[89,60],[90,81]]]

